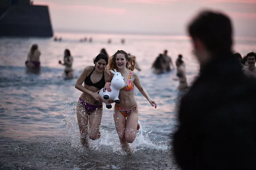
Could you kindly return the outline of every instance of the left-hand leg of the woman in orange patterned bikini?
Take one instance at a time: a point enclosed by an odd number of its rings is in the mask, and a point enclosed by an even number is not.
[[[119,140],[121,143],[121,146],[125,152],[128,154],[132,154],[132,150],[129,146],[129,143],[125,140],[125,125],[126,125],[126,119],[125,117],[117,110],[114,109],[114,121],[115,121],[115,128],[117,130],[117,134],[119,136]]]

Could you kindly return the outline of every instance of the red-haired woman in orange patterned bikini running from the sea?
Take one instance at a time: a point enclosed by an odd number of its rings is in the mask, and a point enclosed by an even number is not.
[[[129,65],[131,65],[131,69],[127,69]],[[141,85],[139,76],[133,71],[134,65],[134,57],[128,56],[123,50],[118,50],[109,59],[109,68],[111,70],[117,69],[117,71],[119,71],[125,78],[126,82],[125,87],[123,87],[119,93],[121,103],[115,104],[113,116],[121,146],[128,154],[132,153],[129,143],[132,143],[135,140],[138,125],[139,111],[133,93],[134,85],[153,107],[157,107],[157,103],[149,97],[147,91]],[[105,89],[107,91],[111,91],[110,85],[110,82],[106,83]]]

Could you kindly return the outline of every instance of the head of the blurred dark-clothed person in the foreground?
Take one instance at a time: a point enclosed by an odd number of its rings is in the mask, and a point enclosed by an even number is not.
[[[201,65],[212,57],[225,57],[232,53],[232,23],[225,14],[211,10],[200,12],[189,23],[187,32],[192,39],[194,55]]]

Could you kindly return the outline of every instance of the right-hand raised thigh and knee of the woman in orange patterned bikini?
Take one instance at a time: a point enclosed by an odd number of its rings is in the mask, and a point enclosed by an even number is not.
[[[128,143],[132,143],[137,136],[137,126],[138,126],[138,109],[131,112],[127,117],[126,128],[125,128],[125,140]]]

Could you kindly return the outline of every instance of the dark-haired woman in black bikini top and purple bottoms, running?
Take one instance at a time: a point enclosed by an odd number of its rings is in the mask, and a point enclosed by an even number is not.
[[[87,134],[92,140],[101,136],[100,125],[102,117],[102,98],[99,91],[105,82],[111,81],[112,77],[105,71],[108,64],[107,55],[100,53],[93,59],[95,66],[86,66],[78,77],[75,88],[83,93],[77,101],[77,121],[80,129],[81,144],[89,147]],[[82,85],[84,82],[84,86]],[[99,104],[95,105],[95,100]],[[88,130],[88,122],[90,128]]]

